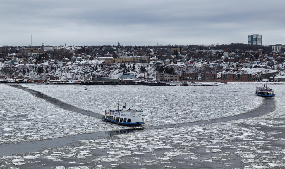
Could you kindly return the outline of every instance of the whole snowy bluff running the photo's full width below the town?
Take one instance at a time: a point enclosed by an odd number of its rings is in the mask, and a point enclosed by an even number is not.
[[[42,64],[18,64],[15,66],[11,64],[0,64],[0,75],[5,76],[6,78],[16,78],[16,76],[35,78],[42,75],[54,75],[58,76],[61,80],[68,78],[89,80],[91,77],[119,78],[123,75],[123,71],[126,68],[125,73],[135,75],[136,78],[156,79],[156,73],[161,73],[159,72],[160,66],[162,65],[154,65],[152,63],[135,63],[135,69],[133,69],[133,63],[103,65],[102,61],[90,60],[83,60],[78,63],[68,62],[63,65],[48,64],[48,62]],[[141,67],[144,68],[145,71],[142,71]],[[167,64],[164,64],[163,67],[164,70],[166,67],[172,67],[174,74],[180,76],[182,73],[218,73],[219,75],[221,72],[252,73],[253,75],[257,75],[276,71],[258,68],[242,68],[239,71],[223,71],[222,68],[207,68],[201,66],[190,67]]]

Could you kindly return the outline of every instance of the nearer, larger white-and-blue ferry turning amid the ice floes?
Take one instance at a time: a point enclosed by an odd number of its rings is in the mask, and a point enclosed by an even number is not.
[[[125,103],[125,106],[119,110],[119,101],[118,110],[105,110],[105,115],[102,117],[102,119],[123,126],[140,126],[145,124],[143,121],[142,109],[137,110],[133,107],[126,108]]]

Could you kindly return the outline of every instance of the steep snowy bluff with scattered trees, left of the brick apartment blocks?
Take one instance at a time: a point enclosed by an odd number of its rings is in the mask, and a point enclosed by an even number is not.
[[[140,68],[144,67],[145,72]],[[38,70],[40,68],[40,71]],[[129,70],[129,72],[128,72]],[[100,61],[81,61],[80,63],[60,64],[0,64],[0,75],[5,77],[40,77],[41,75],[59,76],[60,79],[74,78],[87,80],[91,77],[119,78],[123,75],[124,68],[120,64],[103,65]],[[136,77],[155,78],[156,66],[153,64],[136,63],[133,70],[133,63],[126,64],[126,73]]]

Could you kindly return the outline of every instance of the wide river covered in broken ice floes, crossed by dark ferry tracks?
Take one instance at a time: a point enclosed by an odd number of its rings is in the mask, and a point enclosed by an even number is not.
[[[270,100],[256,85],[23,85],[32,94],[2,84],[1,152],[31,143],[2,155],[0,168],[284,168],[284,85],[270,85]],[[118,98],[144,110],[145,130],[117,135],[127,128],[98,118]],[[263,113],[250,116],[255,110]],[[44,146],[52,140],[61,144]]]

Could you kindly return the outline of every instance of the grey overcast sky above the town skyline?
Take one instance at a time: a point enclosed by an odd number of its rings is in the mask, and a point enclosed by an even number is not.
[[[285,44],[284,0],[1,1],[0,45]]]

